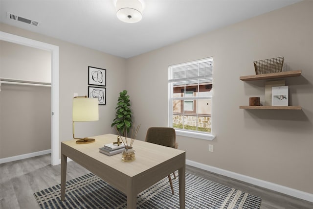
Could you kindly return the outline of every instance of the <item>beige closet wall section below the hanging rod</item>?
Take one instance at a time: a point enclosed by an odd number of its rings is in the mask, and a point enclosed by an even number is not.
[[[2,84],[0,158],[51,149],[51,87]]]

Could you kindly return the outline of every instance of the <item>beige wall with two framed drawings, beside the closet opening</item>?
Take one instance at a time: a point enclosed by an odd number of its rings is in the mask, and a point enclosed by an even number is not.
[[[72,98],[74,93],[88,95],[88,66],[107,70],[107,105],[99,106],[99,121],[76,123],[75,137],[114,133],[111,123],[115,117],[117,98],[119,92],[126,88],[126,60],[124,58],[7,24],[0,24],[0,29],[3,32],[59,46],[60,141],[72,139]]]

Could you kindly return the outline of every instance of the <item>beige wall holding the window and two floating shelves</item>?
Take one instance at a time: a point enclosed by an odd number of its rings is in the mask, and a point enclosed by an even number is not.
[[[127,60],[127,89],[139,139],[150,126],[167,126],[168,66],[213,57],[213,141],[177,137],[188,160],[313,193],[313,1],[209,32]],[[301,111],[242,110],[249,97],[264,102],[265,81],[243,82],[255,74],[253,61],[284,56],[291,105]],[[152,111],[157,110],[157,111]],[[208,144],[214,152],[208,152]]]

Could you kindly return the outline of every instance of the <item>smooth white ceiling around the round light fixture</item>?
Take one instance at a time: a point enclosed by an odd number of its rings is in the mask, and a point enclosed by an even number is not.
[[[0,21],[129,58],[300,0],[145,0],[143,19],[123,23],[113,0],[0,0]],[[38,21],[10,20],[7,12]]]

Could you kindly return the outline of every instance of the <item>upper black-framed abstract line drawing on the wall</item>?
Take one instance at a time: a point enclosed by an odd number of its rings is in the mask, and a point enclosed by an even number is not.
[[[88,66],[88,85],[106,86],[107,70]]]

